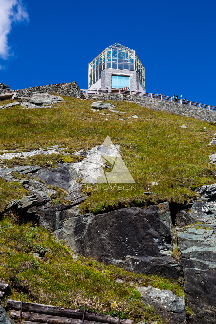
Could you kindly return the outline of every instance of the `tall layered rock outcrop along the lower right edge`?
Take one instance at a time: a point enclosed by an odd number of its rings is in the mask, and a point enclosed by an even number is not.
[[[216,318],[216,184],[205,185],[198,193],[200,199],[191,200],[177,214],[177,240],[194,322],[211,324]]]

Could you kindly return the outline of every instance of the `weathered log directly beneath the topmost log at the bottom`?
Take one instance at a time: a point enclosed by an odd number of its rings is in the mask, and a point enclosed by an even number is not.
[[[11,318],[18,319],[20,316],[20,311],[18,310],[11,310],[10,311]],[[45,315],[45,314],[38,314],[38,313],[29,313],[29,312],[22,312],[22,318],[25,318],[31,324],[32,322],[38,323],[49,323],[49,324],[81,324],[82,319],[80,318],[67,318],[61,316],[52,316],[52,315]],[[101,324],[102,322],[95,322],[95,321],[88,321],[84,320],[84,324]],[[102,323],[107,324],[107,323]]]

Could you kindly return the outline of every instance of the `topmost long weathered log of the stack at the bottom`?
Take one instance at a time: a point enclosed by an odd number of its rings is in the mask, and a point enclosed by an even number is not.
[[[8,299],[6,303],[6,308],[10,308],[13,310],[20,310],[20,301]],[[61,317],[68,317],[68,318],[83,318],[83,310],[80,309],[71,309],[71,308],[64,308],[59,306],[51,306],[51,305],[43,305],[37,303],[29,303],[23,302],[22,303],[23,311],[27,312],[36,312],[46,315],[55,315]],[[98,313],[91,313],[85,312],[85,319],[92,320],[102,323],[109,323],[109,324],[118,324],[118,318],[112,317],[110,315],[98,314]],[[132,324],[131,319],[120,319],[121,324]]]

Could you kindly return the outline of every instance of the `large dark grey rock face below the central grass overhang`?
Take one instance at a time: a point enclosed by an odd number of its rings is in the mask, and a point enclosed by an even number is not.
[[[172,223],[168,203],[123,208],[106,214],[85,214],[78,207],[51,206],[40,211],[55,235],[85,257],[125,269],[158,272],[178,279],[180,267],[172,252]]]

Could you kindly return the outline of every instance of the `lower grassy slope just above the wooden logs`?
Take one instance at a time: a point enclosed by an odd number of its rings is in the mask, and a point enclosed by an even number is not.
[[[36,259],[33,252],[40,254]],[[184,290],[174,281],[158,275],[147,276],[105,266],[91,258],[73,260],[71,250],[47,230],[30,223],[16,225],[8,217],[0,221],[0,280],[7,282],[6,297],[71,308],[84,308],[122,318],[149,321],[160,317],[153,307],[142,304],[136,285],[149,284],[171,289],[181,296]],[[122,279],[118,284],[114,280]],[[130,283],[133,283],[130,285]]]

